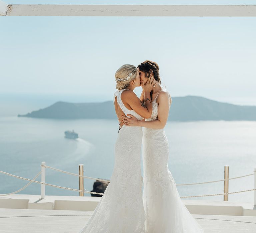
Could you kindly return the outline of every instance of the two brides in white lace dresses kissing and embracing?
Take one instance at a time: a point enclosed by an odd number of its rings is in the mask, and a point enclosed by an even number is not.
[[[181,201],[168,169],[164,126],[172,99],[161,85],[158,64],[147,60],[138,67],[123,65],[115,81],[114,106],[120,126],[114,170],[80,233],[203,233]],[[133,90],[140,86],[138,98]]]

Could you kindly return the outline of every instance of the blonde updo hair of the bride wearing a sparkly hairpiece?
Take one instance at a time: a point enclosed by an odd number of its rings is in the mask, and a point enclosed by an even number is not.
[[[128,75],[132,72],[131,77],[127,81],[117,81],[116,79],[126,79]],[[123,90],[129,87],[130,82],[134,79],[136,79],[137,76],[137,67],[125,64],[121,66],[115,73],[115,80],[116,80],[116,89],[117,90]]]

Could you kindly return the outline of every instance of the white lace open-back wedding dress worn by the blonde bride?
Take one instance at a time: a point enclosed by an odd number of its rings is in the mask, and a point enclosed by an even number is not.
[[[125,90],[125,89],[124,89]],[[128,110],[122,100],[124,90],[114,94],[124,114],[141,120],[134,110]],[[142,202],[140,152],[142,128],[123,125],[115,143],[115,165],[99,204],[87,225],[79,233],[142,233],[145,214]]]

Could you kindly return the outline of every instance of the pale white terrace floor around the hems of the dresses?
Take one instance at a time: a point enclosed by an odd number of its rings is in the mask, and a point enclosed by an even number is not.
[[[74,233],[92,212],[74,210],[0,209],[0,233]],[[256,233],[256,217],[197,215],[205,233]]]

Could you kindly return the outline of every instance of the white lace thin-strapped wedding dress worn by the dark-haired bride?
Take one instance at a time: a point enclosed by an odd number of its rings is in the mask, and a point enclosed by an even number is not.
[[[146,121],[157,119],[156,98],[152,102],[152,116]],[[181,201],[168,169],[169,143],[164,129],[143,127],[142,143],[145,232],[202,233],[203,229]]]

